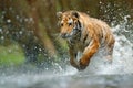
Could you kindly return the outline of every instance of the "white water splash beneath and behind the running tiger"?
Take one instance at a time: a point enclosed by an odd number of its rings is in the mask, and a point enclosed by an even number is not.
[[[121,24],[114,25],[112,23],[112,31],[115,36],[115,46],[113,51],[113,63],[106,64],[105,59],[99,57],[92,58],[89,67],[80,74],[82,75],[111,75],[111,74],[132,74],[133,73],[133,44],[125,37],[123,32],[130,33],[126,28],[130,15],[123,16]],[[130,25],[132,26],[132,25]],[[63,75],[79,74],[76,69],[69,66]]]

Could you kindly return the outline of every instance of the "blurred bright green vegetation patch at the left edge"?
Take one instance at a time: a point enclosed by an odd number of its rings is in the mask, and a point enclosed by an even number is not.
[[[0,46],[0,66],[20,65],[24,62],[24,55],[18,44]]]

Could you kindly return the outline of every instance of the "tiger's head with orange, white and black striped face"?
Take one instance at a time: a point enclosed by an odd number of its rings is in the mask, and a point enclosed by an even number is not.
[[[81,30],[79,13],[76,11],[58,12],[60,35],[62,38],[71,38],[78,35]]]

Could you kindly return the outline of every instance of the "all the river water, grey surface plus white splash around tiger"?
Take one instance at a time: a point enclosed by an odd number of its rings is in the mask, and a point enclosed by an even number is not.
[[[95,57],[83,72],[70,65],[65,69],[59,66],[60,70],[41,73],[1,70],[0,88],[133,88],[133,44],[121,33],[130,33],[124,18],[121,24],[112,25],[116,38],[112,64]]]

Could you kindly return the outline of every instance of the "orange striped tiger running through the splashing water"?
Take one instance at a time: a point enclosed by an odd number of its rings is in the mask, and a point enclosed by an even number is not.
[[[74,10],[57,12],[57,18],[60,36],[66,40],[73,67],[85,69],[100,48],[105,48],[104,56],[112,62],[115,38],[108,23]],[[78,52],[82,53],[79,61]]]

